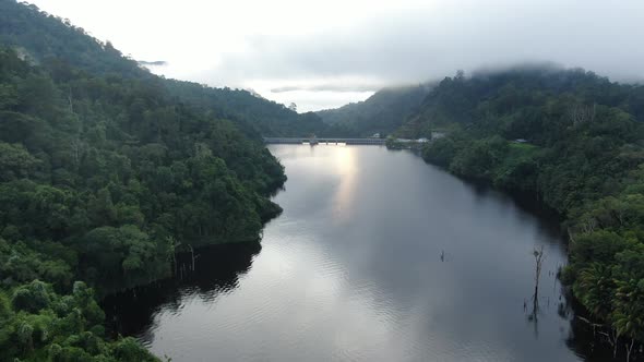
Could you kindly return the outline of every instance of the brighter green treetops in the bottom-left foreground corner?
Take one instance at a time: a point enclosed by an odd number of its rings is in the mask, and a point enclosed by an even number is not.
[[[0,359],[157,361],[131,338],[106,341],[104,318],[93,290],[81,281],[72,295],[57,294],[38,280],[15,289],[11,304],[0,293]]]

